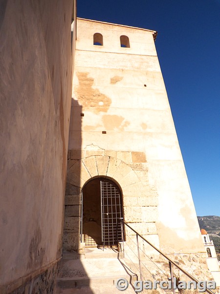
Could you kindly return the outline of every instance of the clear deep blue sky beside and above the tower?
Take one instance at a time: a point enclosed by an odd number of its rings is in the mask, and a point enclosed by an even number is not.
[[[78,0],[78,17],[153,29],[198,216],[220,216],[220,0]]]

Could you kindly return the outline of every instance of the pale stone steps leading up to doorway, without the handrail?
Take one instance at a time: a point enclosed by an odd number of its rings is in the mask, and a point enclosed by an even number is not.
[[[136,280],[112,248],[86,248],[84,254],[64,252],[56,294],[121,294],[118,278]],[[126,294],[134,294],[129,284]]]

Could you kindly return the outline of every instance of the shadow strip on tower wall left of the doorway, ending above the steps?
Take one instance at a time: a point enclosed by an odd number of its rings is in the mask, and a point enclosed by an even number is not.
[[[69,141],[73,141],[74,149],[68,150],[65,219],[63,250],[78,251],[80,249],[80,210],[81,210],[81,125],[84,114],[82,106],[72,98]]]

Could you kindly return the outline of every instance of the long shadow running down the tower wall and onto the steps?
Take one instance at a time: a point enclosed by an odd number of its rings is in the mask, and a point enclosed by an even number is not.
[[[69,142],[71,141],[73,148],[68,150],[67,158],[63,259],[61,260],[56,294],[62,294],[64,289],[71,291],[72,288],[79,285],[79,282],[81,286],[90,285],[87,270],[79,254],[84,249],[80,238],[81,187],[83,185],[81,178],[81,157],[83,157],[81,154],[81,125],[83,116],[82,106],[72,98]],[[93,294],[90,287],[86,291]]]

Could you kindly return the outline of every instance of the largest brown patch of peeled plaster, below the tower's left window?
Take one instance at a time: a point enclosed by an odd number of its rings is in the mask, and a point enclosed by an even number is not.
[[[92,88],[94,78],[89,77],[89,73],[76,73],[79,85],[76,87],[76,96],[84,109],[92,112],[107,112],[111,105],[111,99],[102,94],[99,89]]]

